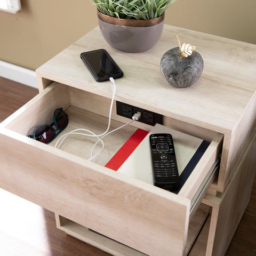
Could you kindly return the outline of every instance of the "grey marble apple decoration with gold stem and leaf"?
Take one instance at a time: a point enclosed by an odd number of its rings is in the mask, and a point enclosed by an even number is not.
[[[167,51],[160,62],[162,74],[166,81],[178,88],[185,88],[193,85],[201,76],[204,61],[201,55],[194,51],[195,46],[180,44],[179,47]]]

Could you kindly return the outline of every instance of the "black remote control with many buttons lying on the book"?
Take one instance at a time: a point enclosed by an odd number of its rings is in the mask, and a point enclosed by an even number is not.
[[[178,189],[180,179],[172,135],[169,133],[151,134],[149,140],[154,185],[167,190]]]

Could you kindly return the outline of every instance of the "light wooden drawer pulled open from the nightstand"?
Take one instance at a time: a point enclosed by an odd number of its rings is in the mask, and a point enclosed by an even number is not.
[[[192,209],[196,210],[214,176],[222,134],[215,134],[175,195],[104,167],[136,130],[134,126],[106,137],[105,150],[94,162],[86,158],[95,140],[76,137],[57,149],[55,140],[45,145],[27,137],[31,127],[50,123],[60,107],[69,116],[62,133],[76,128],[105,131],[108,118],[74,107],[72,90],[78,89],[53,83],[1,124],[0,187],[145,254],[183,255]],[[86,95],[93,97],[83,93],[84,101]],[[99,110],[100,102],[98,106]],[[113,120],[111,129],[121,125]]]

